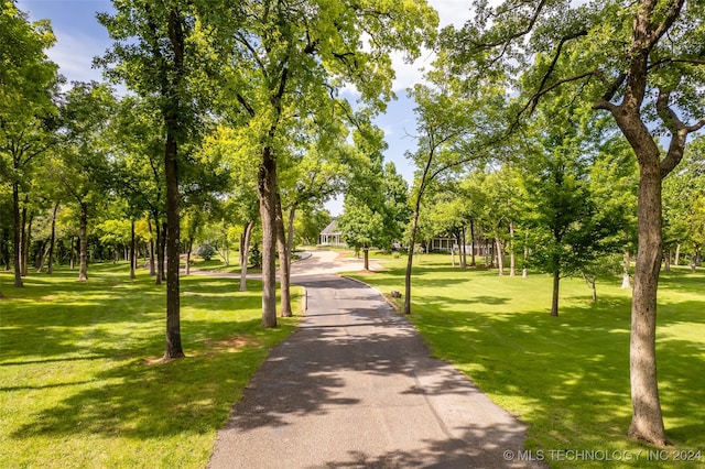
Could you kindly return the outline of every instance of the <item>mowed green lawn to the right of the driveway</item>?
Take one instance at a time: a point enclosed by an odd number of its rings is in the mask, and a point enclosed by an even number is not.
[[[496,270],[452,269],[447,255],[420,258],[410,319],[435,357],[454,363],[529,425],[527,449],[543,451],[560,468],[705,467],[702,269],[693,274],[676,268],[661,276],[659,384],[674,446],[649,452],[653,448],[626,436],[631,291],[620,290],[619,279],[598,284],[596,304],[582,280],[563,280],[556,318],[549,316],[551,279],[545,275],[500,277]],[[387,265],[387,272],[358,277],[386,294],[403,292],[405,259]],[[567,451],[583,451],[584,459]],[[683,458],[692,460],[675,460]]]

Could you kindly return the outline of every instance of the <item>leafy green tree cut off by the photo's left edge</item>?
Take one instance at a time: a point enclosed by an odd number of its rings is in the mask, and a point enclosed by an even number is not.
[[[13,1],[0,1],[0,174],[12,185],[14,286],[22,283],[22,185],[48,146],[56,65],[45,51],[55,37],[48,21],[30,23]],[[26,243],[25,243],[26,244]],[[26,249],[26,246],[24,246]]]

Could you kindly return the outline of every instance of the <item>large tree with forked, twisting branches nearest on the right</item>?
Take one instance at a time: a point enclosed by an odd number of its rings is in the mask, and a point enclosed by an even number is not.
[[[629,435],[665,445],[657,380],[655,315],[662,250],[661,182],[687,137],[705,127],[705,4],[686,0],[476,1],[446,43],[458,70],[522,77],[517,124],[551,94],[608,112],[639,163],[639,246],[632,295]],[[514,85],[519,85],[514,83]],[[517,127],[514,127],[517,128]],[[658,135],[665,135],[662,150]]]

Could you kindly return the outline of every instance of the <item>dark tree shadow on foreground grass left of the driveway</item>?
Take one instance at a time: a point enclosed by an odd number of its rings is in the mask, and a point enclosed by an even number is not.
[[[250,323],[239,326],[259,327],[259,320]],[[195,353],[184,360],[150,366],[135,357],[107,367],[93,380],[76,383],[76,392],[37,412],[11,436],[22,440],[32,435],[99,434],[145,439],[216,429],[254,372],[254,363],[267,355],[257,343],[227,348],[214,343],[192,349]]]

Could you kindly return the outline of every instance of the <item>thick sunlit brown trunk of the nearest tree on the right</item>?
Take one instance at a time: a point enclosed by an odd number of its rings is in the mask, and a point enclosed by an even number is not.
[[[657,292],[662,251],[661,170],[640,162],[638,225],[639,248],[631,302],[629,370],[632,419],[629,436],[663,446],[665,428],[657,379]]]

